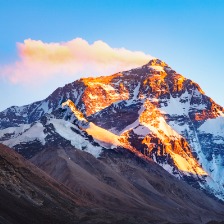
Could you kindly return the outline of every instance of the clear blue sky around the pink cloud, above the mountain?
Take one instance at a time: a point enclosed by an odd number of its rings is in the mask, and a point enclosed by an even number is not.
[[[0,0],[0,33],[0,65],[16,61],[16,43],[28,38],[102,40],[164,60],[224,106],[222,0]],[[30,87],[0,77],[0,110],[44,99],[74,79]]]

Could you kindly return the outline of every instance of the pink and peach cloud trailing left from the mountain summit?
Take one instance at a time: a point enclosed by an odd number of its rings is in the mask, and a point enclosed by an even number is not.
[[[153,58],[140,51],[112,48],[100,40],[89,44],[81,38],[60,43],[26,39],[17,43],[17,49],[18,60],[0,67],[0,76],[14,84],[109,75],[142,66]]]

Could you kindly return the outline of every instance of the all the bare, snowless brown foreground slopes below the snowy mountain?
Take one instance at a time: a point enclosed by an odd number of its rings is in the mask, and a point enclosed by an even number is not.
[[[224,205],[134,154],[74,148],[32,160],[0,145],[0,223],[207,223]],[[67,188],[66,188],[67,186]]]

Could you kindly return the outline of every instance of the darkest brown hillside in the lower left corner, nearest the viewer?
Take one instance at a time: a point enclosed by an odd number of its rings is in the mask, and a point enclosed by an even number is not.
[[[71,193],[42,170],[0,144],[1,224],[146,223]],[[86,200],[87,199],[87,200]]]

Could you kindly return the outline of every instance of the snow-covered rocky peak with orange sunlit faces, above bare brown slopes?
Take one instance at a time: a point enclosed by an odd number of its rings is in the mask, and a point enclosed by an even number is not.
[[[0,141],[27,158],[53,145],[95,157],[125,148],[224,200],[224,110],[158,59],[10,107],[0,129]]]

